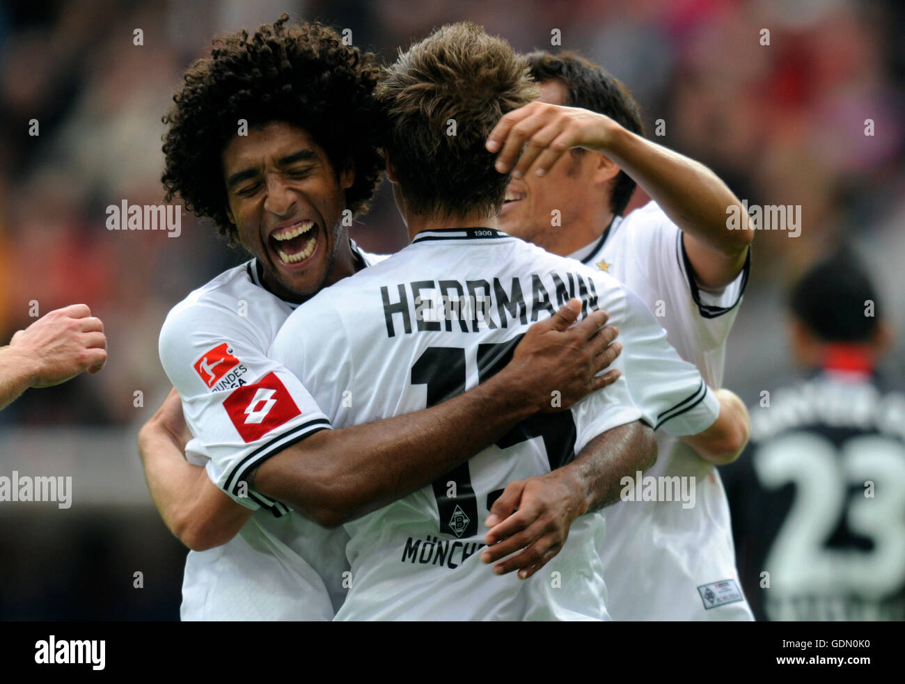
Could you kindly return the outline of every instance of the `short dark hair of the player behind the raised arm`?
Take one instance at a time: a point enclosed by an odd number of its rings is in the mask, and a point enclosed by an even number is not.
[[[568,107],[595,111],[613,119],[620,126],[639,136],[644,135],[641,109],[631,91],[603,67],[586,60],[576,52],[529,52],[525,55],[531,76],[538,83],[562,81],[568,91]],[[581,154],[584,150],[575,150]],[[632,198],[635,182],[624,171],[616,176],[610,197],[614,214],[622,215]]]

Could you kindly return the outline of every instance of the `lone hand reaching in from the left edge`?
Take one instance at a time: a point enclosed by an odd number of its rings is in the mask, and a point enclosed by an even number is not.
[[[100,318],[86,304],[72,304],[38,318],[19,330],[10,347],[33,364],[32,387],[49,387],[71,380],[82,371],[94,374],[107,361],[107,337]]]

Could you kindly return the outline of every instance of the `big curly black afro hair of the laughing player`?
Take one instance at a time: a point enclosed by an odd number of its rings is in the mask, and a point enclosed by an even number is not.
[[[384,167],[376,56],[344,45],[327,26],[287,22],[283,14],[251,36],[243,30],[214,38],[211,56],[189,67],[163,118],[167,202],[179,195],[233,245],[238,232],[226,214],[221,155],[239,119],[249,128],[271,121],[304,128],[336,173],[353,165],[355,183],[346,191],[352,214],[367,210]]]

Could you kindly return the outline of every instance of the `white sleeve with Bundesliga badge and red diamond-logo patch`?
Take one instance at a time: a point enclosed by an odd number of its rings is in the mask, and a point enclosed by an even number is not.
[[[211,480],[243,506],[279,516],[289,509],[250,489],[247,473],[330,424],[300,381],[265,356],[266,344],[248,318],[195,304],[170,312],[159,350]]]

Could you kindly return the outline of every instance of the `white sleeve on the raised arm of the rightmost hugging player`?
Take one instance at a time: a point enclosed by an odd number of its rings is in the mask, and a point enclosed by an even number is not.
[[[663,323],[670,331],[686,329],[693,344],[704,355],[726,343],[748,285],[751,252],[735,280],[720,290],[702,290],[685,252],[679,226],[656,204],[637,210],[638,215],[623,227],[634,255],[635,268],[643,273],[647,292],[639,290],[651,309],[662,300]],[[626,219],[627,221],[629,219]]]

